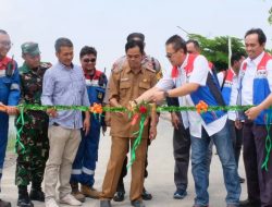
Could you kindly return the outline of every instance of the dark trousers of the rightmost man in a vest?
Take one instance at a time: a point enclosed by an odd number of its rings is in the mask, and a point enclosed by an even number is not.
[[[272,136],[271,131],[269,132]],[[272,206],[272,154],[268,171],[261,169],[267,156],[265,125],[257,125],[247,121],[243,129],[243,156],[247,176],[247,193],[249,199],[260,199],[262,207]]]

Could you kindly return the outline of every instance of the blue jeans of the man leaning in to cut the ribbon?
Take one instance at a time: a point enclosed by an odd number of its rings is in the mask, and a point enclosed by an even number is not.
[[[209,137],[202,129],[202,137],[190,137],[191,141],[191,171],[195,180],[196,205],[209,204],[209,165],[207,159],[208,146],[212,138],[223,168],[224,183],[227,191],[226,203],[238,205],[240,196],[240,184],[238,180],[237,166],[234,158],[233,144],[230,137],[227,123],[218,133]]]

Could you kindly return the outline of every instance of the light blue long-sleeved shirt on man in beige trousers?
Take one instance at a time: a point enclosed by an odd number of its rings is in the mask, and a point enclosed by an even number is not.
[[[47,106],[89,106],[85,77],[82,68],[65,66],[58,62],[48,69],[42,83],[41,104]],[[65,129],[83,126],[82,112],[77,110],[58,111],[50,118],[49,125],[58,123]]]

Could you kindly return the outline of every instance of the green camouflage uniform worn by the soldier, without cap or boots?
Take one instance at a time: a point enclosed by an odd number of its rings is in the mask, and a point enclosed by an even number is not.
[[[20,68],[21,104],[41,105],[42,77],[50,63],[41,63],[36,70],[30,70],[25,63]],[[45,111],[27,110],[24,112],[24,126],[20,142],[15,148],[17,153],[15,184],[40,186],[46,161],[49,154],[48,122]],[[16,123],[20,129],[21,124]]]

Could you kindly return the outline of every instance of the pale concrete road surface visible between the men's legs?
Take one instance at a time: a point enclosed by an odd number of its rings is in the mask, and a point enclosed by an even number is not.
[[[158,125],[158,136],[154,142],[152,142],[149,148],[149,166],[148,172],[149,176],[145,182],[146,188],[152,193],[153,199],[150,202],[145,202],[147,207],[191,207],[194,204],[195,191],[194,191],[194,181],[191,176],[191,171],[189,168],[188,178],[188,196],[182,200],[173,199],[173,193],[175,191],[174,185],[174,158],[173,158],[173,147],[172,147],[172,136],[173,129],[170,122],[168,121],[168,115],[162,115],[163,119],[160,119]],[[103,175],[106,172],[109,155],[110,155],[111,138],[109,133],[106,136],[101,136],[100,146],[99,146],[99,160],[96,170],[96,183],[95,187],[101,190]],[[10,153],[7,156],[9,160],[8,167],[3,171],[2,178],[2,192],[0,194],[1,198],[10,200],[12,206],[16,206],[17,199],[17,188],[14,185],[14,159],[15,155]],[[239,165],[239,174],[245,178],[244,163],[240,159]],[[125,202],[115,203],[112,202],[112,206],[131,206],[128,199],[129,192],[129,180],[131,174],[125,178],[125,188],[126,197]],[[211,163],[211,173],[210,173],[210,207],[223,207],[225,205],[225,195],[226,191],[224,187],[224,181],[222,175],[222,167],[219,161],[219,157],[213,155]],[[246,184],[242,184],[242,199],[246,198]],[[34,202],[36,207],[45,206],[44,203]],[[64,206],[64,205],[61,205]],[[87,198],[83,205],[84,207],[96,207],[99,206],[99,200]]]

